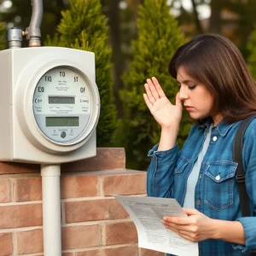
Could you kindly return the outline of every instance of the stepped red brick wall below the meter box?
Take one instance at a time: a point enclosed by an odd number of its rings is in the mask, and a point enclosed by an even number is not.
[[[125,169],[123,148],[61,165],[63,256],[163,256],[137,247],[137,230],[112,195],[145,195],[146,172]],[[44,255],[39,165],[0,162],[0,256]],[[54,256],[54,255],[53,255]]]

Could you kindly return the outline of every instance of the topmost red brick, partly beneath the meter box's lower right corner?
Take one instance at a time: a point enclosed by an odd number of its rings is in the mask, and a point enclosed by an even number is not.
[[[125,148],[97,148],[96,156],[61,165],[62,172],[125,169]]]

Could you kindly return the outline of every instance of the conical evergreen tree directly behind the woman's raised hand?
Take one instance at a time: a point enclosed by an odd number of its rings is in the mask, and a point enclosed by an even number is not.
[[[146,79],[156,77],[166,96],[175,103],[178,91],[168,64],[177,48],[184,43],[177,20],[170,15],[166,0],[145,0],[139,8],[138,38],[132,43],[133,61],[123,75],[125,89],[120,95],[125,118],[119,120],[117,137],[126,149],[127,166],[140,170],[148,166],[148,149],[160,139],[160,125],[148,110],[143,93]],[[187,137],[191,121],[183,115],[179,144]]]

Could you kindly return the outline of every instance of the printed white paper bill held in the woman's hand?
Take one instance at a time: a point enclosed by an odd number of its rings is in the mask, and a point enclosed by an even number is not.
[[[178,256],[198,256],[198,243],[178,236],[161,223],[164,216],[188,218],[172,198],[113,195],[137,228],[138,246]]]

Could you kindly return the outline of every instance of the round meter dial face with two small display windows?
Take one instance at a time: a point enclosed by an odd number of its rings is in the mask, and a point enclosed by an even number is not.
[[[38,127],[55,143],[78,143],[91,117],[90,87],[80,73],[55,67],[44,73],[33,95]]]

